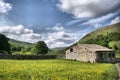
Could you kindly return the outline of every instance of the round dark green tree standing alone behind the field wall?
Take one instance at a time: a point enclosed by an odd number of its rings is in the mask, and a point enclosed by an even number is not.
[[[32,52],[35,54],[47,54],[48,47],[44,41],[38,41],[33,45]]]

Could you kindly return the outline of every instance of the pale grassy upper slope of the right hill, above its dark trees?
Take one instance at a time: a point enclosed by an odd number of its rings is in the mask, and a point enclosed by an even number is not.
[[[82,39],[79,40],[79,42],[85,42],[88,39],[91,38],[97,38],[100,35],[103,36],[108,36],[111,33],[116,33],[116,34],[120,34],[120,23],[117,24],[113,24],[107,27],[103,27],[101,29],[98,29],[96,31],[93,31],[89,34],[87,34],[85,37],[83,37]]]

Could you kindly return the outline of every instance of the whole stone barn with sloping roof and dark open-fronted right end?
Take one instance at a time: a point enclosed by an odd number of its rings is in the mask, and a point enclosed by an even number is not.
[[[115,62],[115,51],[96,44],[77,44],[66,50],[66,59],[85,62]]]

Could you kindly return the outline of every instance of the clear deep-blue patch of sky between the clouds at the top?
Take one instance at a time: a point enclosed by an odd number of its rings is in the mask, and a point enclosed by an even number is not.
[[[65,24],[73,18],[63,13],[56,6],[55,0],[6,0],[12,4],[9,19],[16,24],[54,26],[56,23]],[[17,21],[16,21],[17,18]]]

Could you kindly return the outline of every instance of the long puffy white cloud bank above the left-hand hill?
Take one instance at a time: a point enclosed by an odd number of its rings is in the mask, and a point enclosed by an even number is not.
[[[0,26],[0,33],[11,39],[25,42],[36,42],[40,39],[40,34],[34,33],[33,30],[27,29],[23,25]]]

